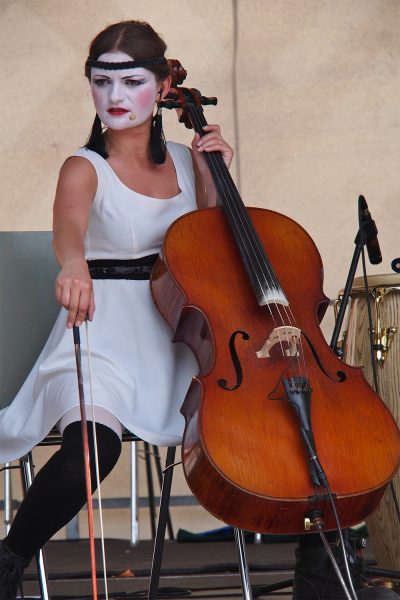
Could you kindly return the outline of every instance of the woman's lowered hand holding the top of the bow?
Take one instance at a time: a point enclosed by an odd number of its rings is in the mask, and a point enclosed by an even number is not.
[[[95,311],[93,284],[84,259],[64,263],[56,279],[56,299],[68,310],[67,327],[79,327]]]

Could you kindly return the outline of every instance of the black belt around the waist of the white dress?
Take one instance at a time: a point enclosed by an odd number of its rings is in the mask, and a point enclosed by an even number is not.
[[[92,279],[150,279],[158,254],[132,260],[88,260]]]

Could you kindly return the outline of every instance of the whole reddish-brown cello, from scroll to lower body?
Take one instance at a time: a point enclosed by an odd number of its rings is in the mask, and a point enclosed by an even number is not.
[[[204,98],[180,84],[164,100],[203,134]],[[166,233],[151,291],[173,341],[199,374],[182,406],[182,464],[193,494],[239,529],[304,533],[354,525],[399,466],[400,433],[359,367],[344,364],[319,323],[328,306],[308,233],[248,208],[218,152],[205,153],[217,207]]]

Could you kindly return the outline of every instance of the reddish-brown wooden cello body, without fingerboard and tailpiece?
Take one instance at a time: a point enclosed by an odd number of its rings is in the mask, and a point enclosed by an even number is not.
[[[343,527],[362,521],[378,505],[399,460],[399,432],[361,369],[343,364],[318,325],[322,264],[308,234],[289,218],[249,209],[296,323],[319,348],[326,374],[304,344],[312,381],[312,423]],[[284,259],[281,256],[285,247]],[[197,248],[198,252],[194,249]],[[161,314],[189,345],[200,365],[182,412],[186,420],[182,460],[188,484],[216,517],[258,532],[303,532],[304,519],[321,509],[336,527],[329,503],[312,485],[296,416],[280,378],[287,369],[279,351],[258,358],[274,323],[255,301],[222,210],[179,219],[169,230],[152,291]],[[237,372],[242,381],[232,391]],[[344,372],[340,381],[337,371]],[[272,395],[271,395],[272,394]]]

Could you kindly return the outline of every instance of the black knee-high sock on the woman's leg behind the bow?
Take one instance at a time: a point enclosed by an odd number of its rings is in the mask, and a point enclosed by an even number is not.
[[[116,464],[121,453],[118,435],[98,424],[97,448],[100,480]],[[92,489],[96,488],[93,424],[88,421]],[[58,450],[38,472],[15,515],[4,540],[17,556],[31,558],[86,502],[81,423],[65,428]]]

